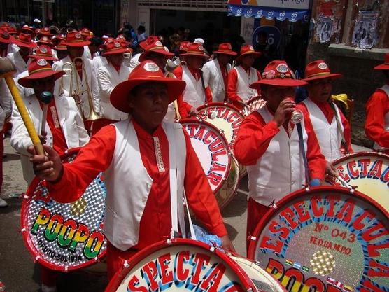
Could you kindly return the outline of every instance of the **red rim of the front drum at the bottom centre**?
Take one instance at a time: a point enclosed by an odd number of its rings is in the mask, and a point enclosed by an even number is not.
[[[193,239],[187,239],[187,238],[174,238],[174,239],[168,239],[168,240],[162,240],[160,242],[155,242],[155,244],[152,244],[141,251],[137,252],[127,260],[127,267],[122,267],[121,270],[118,270],[118,272],[115,273],[111,281],[106,286],[105,292],[117,292],[118,286],[122,283],[122,281],[127,277],[127,274],[129,273],[132,268],[141,262],[144,258],[147,256],[150,256],[150,254],[154,253],[155,251],[159,251],[160,249],[167,247],[167,246],[179,246],[179,245],[194,245],[200,248],[204,248],[210,253],[215,254],[218,258],[220,258],[223,263],[226,263],[228,267],[230,267],[234,272],[236,273],[236,276],[241,281],[241,285],[246,285],[244,288],[246,288],[246,291],[250,288],[255,288],[255,285],[253,284],[253,281],[248,277],[246,272],[244,272],[243,268],[240,267],[232,258],[227,256],[225,251],[220,250],[218,248],[213,248],[213,246],[210,246],[208,244],[205,244],[204,242],[199,242],[197,240]],[[213,251],[211,250],[213,249]]]

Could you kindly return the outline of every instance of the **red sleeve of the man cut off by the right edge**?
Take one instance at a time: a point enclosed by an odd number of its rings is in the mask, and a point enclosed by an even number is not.
[[[385,129],[384,116],[389,111],[389,97],[376,91],[366,104],[365,133],[381,147],[389,148],[389,132]]]

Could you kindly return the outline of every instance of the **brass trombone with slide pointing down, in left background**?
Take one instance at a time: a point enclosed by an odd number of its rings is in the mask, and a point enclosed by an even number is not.
[[[80,81],[78,81],[78,77],[75,74],[77,73],[76,64],[80,64],[81,68],[83,70],[83,76],[84,78],[87,78],[87,72],[85,70],[85,64],[83,62],[83,59],[81,57],[74,58],[73,62],[66,62],[62,65],[62,71],[65,72],[64,76],[61,78],[59,90],[62,90],[64,88],[64,77],[70,78],[70,86],[69,86],[69,95],[73,97],[74,101],[76,102],[76,105],[78,107],[78,110],[81,113],[81,116],[84,120],[98,120],[101,118],[99,115],[97,115],[96,111],[94,111],[94,104],[92,99],[92,93],[90,92],[90,86],[87,81],[86,83],[86,90],[81,90],[80,87]],[[76,78],[76,88],[73,88],[73,79]],[[86,92],[87,94],[87,100],[89,105],[89,115],[85,116],[84,109],[83,109],[83,101],[81,100],[81,95]]]

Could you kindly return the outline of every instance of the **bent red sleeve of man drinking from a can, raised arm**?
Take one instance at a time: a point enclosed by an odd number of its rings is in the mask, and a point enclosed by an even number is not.
[[[255,165],[279,131],[274,121],[265,123],[259,113],[253,112],[248,115],[239,127],[236,138],[234,147],[236,160],[241,165]]]

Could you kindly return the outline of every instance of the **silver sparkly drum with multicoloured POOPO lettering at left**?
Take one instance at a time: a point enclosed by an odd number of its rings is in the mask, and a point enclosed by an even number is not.
[[[72,149],[62,157],[70,161]],[[52,200],[45,181],[35,178],[22,202],[22,235],[39,263],[52,270],[70,271],[97,263],[106,253],[103,218],[106,188],[101,174],[76,202]]]

